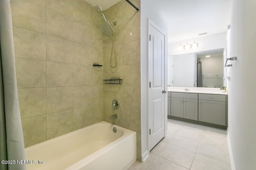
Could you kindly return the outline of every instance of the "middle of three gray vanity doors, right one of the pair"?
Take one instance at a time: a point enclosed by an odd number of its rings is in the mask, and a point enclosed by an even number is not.
[[[198,120],[198,100],[184,99],[184,118]]]

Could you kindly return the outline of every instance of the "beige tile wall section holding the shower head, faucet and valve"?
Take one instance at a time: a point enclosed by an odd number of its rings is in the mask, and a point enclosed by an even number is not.
[[[140,0],[131,0],[131,2],[138,8],[140,7]],[[117,66],[110,67],[112,37],[105,36],[104,79],[115,77],[123,79],[121,85],[104,85],[104,121],[137,132],[137,158],[141,160],[140,11],[137,12],[125,0],[122,0],[105,10],[104,14],[110,23],[117,22],[114,26]],[[114,59],[114,56],[112,58]],[[114,99],[120,102],[117,110],[112,109]],[[118,117],[110,121],[109,117],[112,114],[117,114]]]

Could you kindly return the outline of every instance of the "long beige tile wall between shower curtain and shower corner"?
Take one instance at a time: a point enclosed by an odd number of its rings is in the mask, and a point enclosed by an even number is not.
[[[84,0],[10,2],[25,147],[103,121],[101,16]]]

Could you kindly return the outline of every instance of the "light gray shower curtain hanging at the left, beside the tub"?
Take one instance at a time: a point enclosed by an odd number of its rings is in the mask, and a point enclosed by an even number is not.
[[[17,164],[17,160],[25,160],[25,151],[16,82],[10,0],[0,0],[0,160],[6,160],[0,163],[1,170],[26,169],[25,164]]]

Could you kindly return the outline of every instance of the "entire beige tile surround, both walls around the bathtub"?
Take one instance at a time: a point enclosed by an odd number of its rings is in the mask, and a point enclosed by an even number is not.
[[[11,0],[11,9],[25,147],[104,120],[137,132],[140,160],[140,12],[125,0],[104,11],[117,21],[111,68],[112,37],[84,0]],[[113,77],[123,84],[103,85]],[[112,114],[118,118],[110,121]]]

